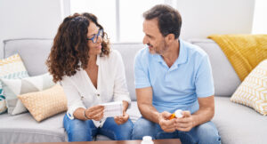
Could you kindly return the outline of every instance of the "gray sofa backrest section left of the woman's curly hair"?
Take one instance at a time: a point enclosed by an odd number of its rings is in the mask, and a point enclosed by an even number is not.
[[[20,54],[29,76],[37,76],[47,72],[45,60],[48,57],[52,39],[11,39],[4,41],[4,58],[15,53]]]

